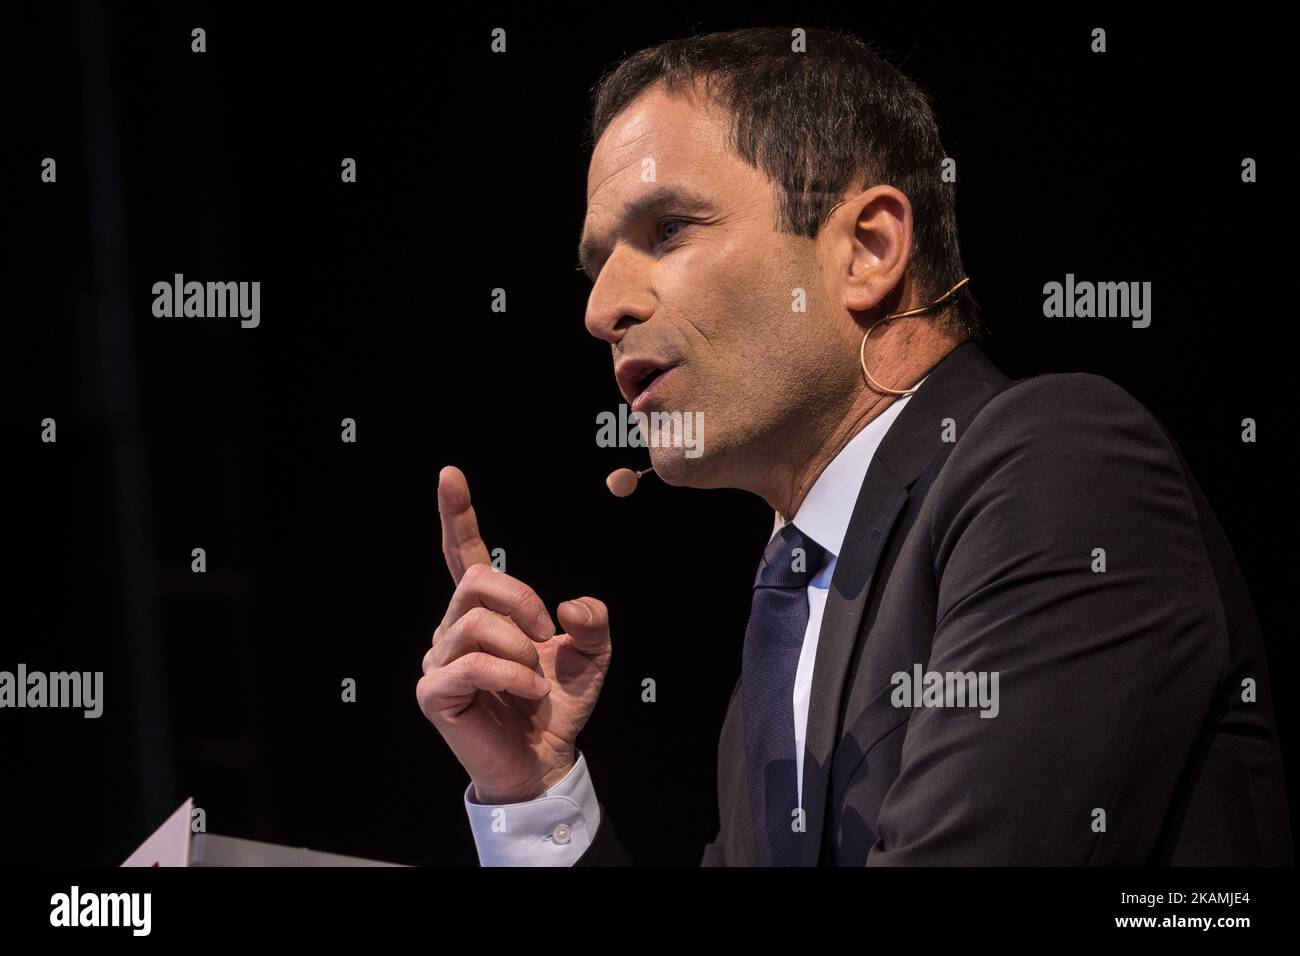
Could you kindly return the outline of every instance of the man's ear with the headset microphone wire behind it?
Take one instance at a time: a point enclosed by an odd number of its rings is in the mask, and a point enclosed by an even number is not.
[[[844,308],[870,312],[911,260],[911,203],[893,186],[872,186],[832,212],[823,242],[833,294]]]

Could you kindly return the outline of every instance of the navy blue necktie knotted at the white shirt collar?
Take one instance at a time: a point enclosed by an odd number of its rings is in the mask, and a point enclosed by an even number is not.
[[[794,672],[809,626],[807,585],[827,550],[786,523],[763,551],[741,665],[749,806],[759,866],[797,866]],[[802,814],[800,814],[802,816]]]

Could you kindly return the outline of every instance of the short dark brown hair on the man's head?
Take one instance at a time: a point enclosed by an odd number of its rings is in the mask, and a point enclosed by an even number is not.
[[[966,273],[957,245],[957,187],[930,98],[876,48],[850,34],[755,27],[688,36],[633,53],[597,85],[592,144],[632,100],[656,83],[670,94],[703,85],[731,116],[731,148],[780,187],[776,228],[815,238],[855,185],[897,187],[913,208],[909,268],[926,294],[942,295]],[[936,310],[958,341],[983,337],[970,286]]]

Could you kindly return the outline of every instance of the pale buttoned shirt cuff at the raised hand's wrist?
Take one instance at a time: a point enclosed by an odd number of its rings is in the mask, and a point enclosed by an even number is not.
[[[572,866],[601,826],[586,757],[540,797],[517,804],[481,804],[465,787],[465,813],[482,866]]]

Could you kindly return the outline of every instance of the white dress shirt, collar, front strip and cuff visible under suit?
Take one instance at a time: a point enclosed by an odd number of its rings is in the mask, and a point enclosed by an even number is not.
[[[928,378],[918,382],[918,388]],[[915,394],[915,393],[914,393]],[[809,697],[812,691],[812,662],[816,659],[822,633],[822,614],[835,576],[835,563],[849,531],[853,506],[867,477],[867,468],[889,425],[907,405],[911,395],[894,401],[871,419],[840,454],[822,471],[809,489],[794,524],[827,550],[827,557],[809,583],[809,623],[803,631],[803,648],[794,674],[794,756],[798,766],[798,795],[803,801],[803,741],[807,735]],[[785,524],[774,512],[772,536]],[[768,538],[771,540],[771,537]],[[568,775],[534,800],[519,804],[480,804],[474,786],[465,787],[465,812],[474,834],[478,862],[484,866],[571,866],[582,856],[601,825],[601,808],[586,769],[586,758],[577,752],[577,762]]]

